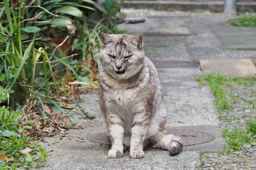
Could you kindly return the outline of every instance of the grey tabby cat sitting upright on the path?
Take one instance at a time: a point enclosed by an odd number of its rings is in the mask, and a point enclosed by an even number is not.
[[[130,147],[132,158],[143,158],[148,145],[180,152],[179,136],[163,135],[166,109],[162,85],[153,63],[144,55],[142,35],[101,33],[99,69],[101,119],[120,158]]]

